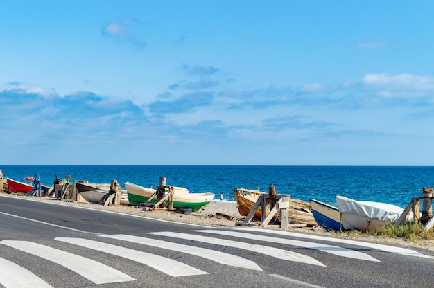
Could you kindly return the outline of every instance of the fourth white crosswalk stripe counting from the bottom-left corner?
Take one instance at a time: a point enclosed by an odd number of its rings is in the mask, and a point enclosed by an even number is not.
[[[146,237],[138,237],[133,235],[103,235],[101,237],[113,238],[118,240],[124,240],[139,244],[144,244],[148,246],[153,246],[161,249],[167,249],[171,251],[177,251],[182,253],[187,253],[195,256],[199,256],[202,258],[206,258],[208,260],[218,262],[220,264],[234,266],[239,268],[263,271],[261,267],[258,266],[255,262],[242,258],[240,256],[232,255],[229,253],[224,253],[220,251],[215,251],[211,249],[205,249],[202,247],[184,245],[174,242],[156,240]]]

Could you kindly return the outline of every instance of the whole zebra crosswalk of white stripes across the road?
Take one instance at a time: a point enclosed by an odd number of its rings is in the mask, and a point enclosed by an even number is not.
[[[279,237],[273,237],[273,235],[278,235]],[[232,240],[223,239],[222,236]],[[158,239],[155,239],[155,237]],[[370,247],[370,249],[386,251],[388,253],[434,259],[431,255],[424,255],[410,249],[403,249],[384,244],[373,244],[354,240],[342,240],[291,233],[288,231],[268,231],[254,228],[229,230],[198,229],[187,233],[162,231],[144,233],[144,235],[141,236],[116,234],[98,235],[94,238],[94,240],[89,240],[81,237],[55,237],[54,241],[114,255],[115,259],[123,258],[134,261],[143,264],[145,267],[150,267],[155,271],[155,273],[164,273],[171,277],[207,276],[207,274],[213,273],[213,269],[210,269],[213,262],[227,267],[237,267],[238,269],[248,269],[260,273],[263,272],[261,263],[243,257],[243,253],[233,255],[230,252],[234,250],[231,249],[248,251],[249,254],[265,254],[268,255],[268,257],[276,258],[277,260],[299,262],[312,265],[313,267],[322,267],[322,269],[327,269],[327,263],[322,263],[320,260],[309,255],[295,252],[291,247],[296,246],[304,249],[313,249],[321,251],[322,253],[327,253],[332,257],[350,258],[354,261],[381,263],[380,260],[365,252],[322,243],[326,241],[355,246],[367,246]],[[293,238],[302,238],[303,240],[294,240]],[[123,244],[110,244],[107,243],[108,240],[116,240],[116,243],[120,242]],[[189,244],[180,244],[176,242],[177,240],[188,242]],[[321,242],[315,242],[315,240]],[[256,243],[260,242],[261,244],[250,243],[252,241]],[[172,259],[155,253],[148,253],[140,251],[139,249],[128,248],[128,244],[131,243],[134,245],[139,244],[139,246],[144,247],[157,247],[158,249],[174,251],[179,254],[193,255],[193,257],[203,258],[211,264],[209,267],[193,267],[194,265],[191,265],[191,263],[187,264],[182,262],[182,258]],[[223,249],[223,251],[219,251],[217,248],[203,248],[198,246],[200,243],[205,243],[207,246],[226,246],[231,249]],[[271,246],[270,243],[278,244],[277,246],[279,246],[279,248],[277,248],[276,245]],[[2,240],[0,241],[0,252],[2,247],[4,249],[5,246],[58,264],[65,269],[69,269],[79,276],[86,278],[96,285],[130,282],[135,281],[137,278],[135,275],[128,275],[128,271],[119,271],[118,269],[115,269],[114,267],[116,267],[116,265],[103,264],[98,262],[98,260],[88,258],[86,255],[77,255],[78,253],[76,254],[56,249],[47,244],[39,244],[27,240]],[[26,267],[21,267],[19,264],[15,263],[13,259],[14,258],[6,259],[0,257],[0,285],[3,285],[3,287],[6,288],[51,287],[49,282],[47,282],[48,280],[36,276],[34,273],[26,269]]]

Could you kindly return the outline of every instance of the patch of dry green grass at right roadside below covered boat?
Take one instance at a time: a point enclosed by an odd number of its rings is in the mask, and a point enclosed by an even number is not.
[[[375,231],[343,231],[348,235],[373,235],[379,237],[401,238],[406,241],[416,242],[419,240],[434,240],[434,229],[424,230],[420,223],[406,223],[394,227],[393,224]]]

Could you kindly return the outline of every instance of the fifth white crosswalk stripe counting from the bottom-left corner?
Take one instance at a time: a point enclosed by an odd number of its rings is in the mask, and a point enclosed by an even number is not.
[[[300,263],[304,263],[304,264],[313,264],[313,265],[326,267],[326,265],[322,264],[318,260],[315,260],[311,256],[307,256],[307,255],[303,255],[301,253],[296,253],[293,251],[288,251],[288,250],[279,249],[279,248],[275,248],[275,247],[265,246],[265,245],[251,244],[251,243],[238,242],[238,241],[233,241],[233,240],[225,240],[225,239],[220,239],[220,238],[207,237],[207,236],[202,236],[202,235],[186,234],[186,233],[153,232],[153,233],[148,233],[148,234],[162,235],[162,236],[167,236],[167,237],[180,238],[180,239],[184,239],[184,240],[193,240],[193,241],[205,242],[205,243],[209,243],[209,244],[234,247],[237,249],[248,250],[248,251],[252,251],[255,253],[262,253],[262,254],[268,255],[270,257],[278,258],[281,260],[294,261],[294,262],[300,262]]]

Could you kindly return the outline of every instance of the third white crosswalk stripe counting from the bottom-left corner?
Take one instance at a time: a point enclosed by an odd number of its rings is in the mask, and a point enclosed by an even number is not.
[[[123,257],[141,264],[145,264],[148,267],[152,267],[162,273],[166,273],[169,276],[180,277],[180,276],[192,276],[192,275],[203,275],[208,274],[205,271],[196,269],[182,262],[172,260],[170,258],[162,257],[159,255],[154,255],[151,253],[146,253],[134,249],[129,249],[113,244],[107,244],[103,242],[87,240],[83,238],[64,238],[56,237],[55,240],[71,243],[78,246],[83,246],[89,249],[94,249],[96,251],[102,251],[105,253],[110,253],[119,257]]]

